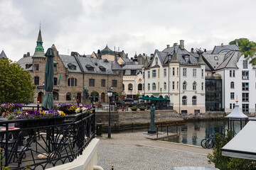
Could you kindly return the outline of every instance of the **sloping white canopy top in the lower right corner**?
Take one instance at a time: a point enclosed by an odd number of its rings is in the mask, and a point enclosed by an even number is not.
[[[250,120],[247,125],[222,149],[222,155],[242,159],[256,160],[256,121]]]

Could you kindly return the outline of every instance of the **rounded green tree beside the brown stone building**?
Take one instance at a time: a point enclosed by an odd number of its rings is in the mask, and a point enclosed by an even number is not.
[[[28,71],[11,60],[0,60],[0,103],[28,103],[34,89]]]

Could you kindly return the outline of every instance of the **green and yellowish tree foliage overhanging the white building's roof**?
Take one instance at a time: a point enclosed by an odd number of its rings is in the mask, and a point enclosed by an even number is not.
[[[242,54],[245,55],[245,57],[248,57],[247,60],[252,58],[250,63],[252,65],[255,65],[256,58],[253,57],[253,55],[255,55],[255,52],[256,52],[256,42],[250,41],[247,38],[239,38],[239,39],[230,41],[229,45],[234,45],[236,44],[236,42],[238,42],[238,47],[240,48],[240,52],[242,52]]]

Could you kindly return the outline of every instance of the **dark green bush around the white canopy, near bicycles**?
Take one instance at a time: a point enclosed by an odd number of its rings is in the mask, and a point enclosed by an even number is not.
[[[215,133],[215,147],[213,148],[213,154],[208,154],[209,164],[215,164],[215,168],[220,170],[234,170],[234,169],[256,169],[255,160],[240,159],[232,157],[224,157],[221,155],[221,148],[224,147],[232,138],[233,132],[227,130],[224,132],[223,137],[219,133]]]

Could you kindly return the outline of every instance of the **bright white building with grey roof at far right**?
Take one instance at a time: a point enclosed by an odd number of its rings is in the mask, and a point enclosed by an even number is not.
[[[213,51],[203,54],[208,69],[206,77],[218,75],[222,79],[222,108],[233,111],[238,99],[243,113],[255,113],[256,69],[240,53],[238,45],[215,46]],[[207,91],[206,91],[207,94]]]

